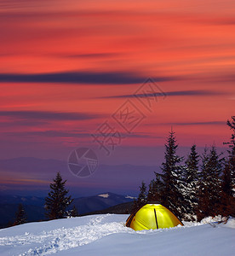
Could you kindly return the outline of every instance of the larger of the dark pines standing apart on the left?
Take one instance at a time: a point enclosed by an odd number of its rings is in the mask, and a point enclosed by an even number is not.
[[[66,196],[68,190],[65,189],[65,181],[62,181],[60,172],[57,172],[54,183],[50,183],[50,192],[45,199],[46,216],[49,219],[64,218],[66,207],[72,203],[71,196]]]

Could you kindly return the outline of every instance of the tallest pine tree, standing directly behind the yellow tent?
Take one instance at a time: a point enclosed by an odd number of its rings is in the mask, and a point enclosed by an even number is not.
[[[162,203],[169,207],[176,216],[181,217],[186,209],[184,208],[184,183],[183,171],[185,166],[181,165],[183,157],[176,154],[178,145],[176,144],[175,132],[170,131],[167,143],[165,144],[165,162],[162,164]]]

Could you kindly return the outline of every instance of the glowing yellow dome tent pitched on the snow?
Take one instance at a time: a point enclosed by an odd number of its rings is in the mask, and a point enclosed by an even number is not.
[[[158,203],[147,203],[127,219],[126,226],[133,230],[156,230],[183,225],[179,218]]]

